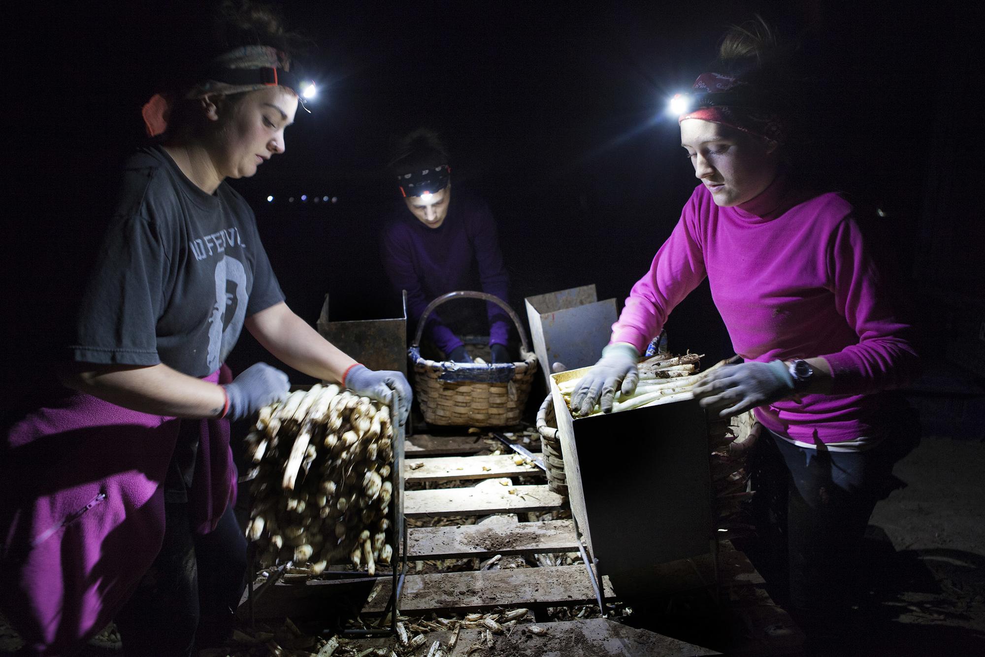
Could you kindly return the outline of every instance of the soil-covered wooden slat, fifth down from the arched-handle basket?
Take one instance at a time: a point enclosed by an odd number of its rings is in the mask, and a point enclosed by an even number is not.
[[[615,598],[608,578],[603,595]],[[362,608],[367,615],[381,614],[390,597],[390,579],[376,582],[371,600]],[[480,611],[493,607],[558,607],[595,602],[595,591],[584,565],[545,568],[470,570],[407,575],[400,595],[401,614],[427,614],[447,610]]]

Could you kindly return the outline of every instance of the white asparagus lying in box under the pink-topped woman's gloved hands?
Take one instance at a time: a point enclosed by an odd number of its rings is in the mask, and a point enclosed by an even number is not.
[[[636,391],[625,396],[623,393],[617,393],[616,401],[613,404],[613,413],[691,399],[693,397],[690,391],[691,387],[704,375],[704,372],[695,373],[700,358],[697,354],[685,356],[659,354],[640,362],[638,366],[639,383],[636,385]],[[571,379],[558,384],[561,395],[567,401],[568,408],[571,406],[571,395],[577,388],[578,382],[579,379]],[[596,404],[595,409],[589,415],[599,413],[602,413],[602,409]]]

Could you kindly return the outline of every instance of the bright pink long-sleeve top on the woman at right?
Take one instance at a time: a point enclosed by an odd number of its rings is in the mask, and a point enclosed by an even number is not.
[[[746,361],[822,357],[831,366],[831,394],[759,407],[764,427],[812,444],[880,435],[880,391],[909,380],[918,359],[851,204],[836,194],[799,193],[782,175],[733,208],[718,207],[698,185],[626,298],[612,341],[642,354],[705,276]]]

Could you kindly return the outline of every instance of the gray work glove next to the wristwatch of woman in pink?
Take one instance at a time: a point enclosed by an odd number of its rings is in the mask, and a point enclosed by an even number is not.
[[[718,410],[719,418],[728,418],[789,397],[794,377],[783,361],[740,362],[709,372],[693,391],[702,408]]]

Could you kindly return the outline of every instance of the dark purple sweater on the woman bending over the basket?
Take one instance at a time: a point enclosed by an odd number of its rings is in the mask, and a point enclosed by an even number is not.
[[[407,291],[412,327],[437,296],[474,289],[473,262],[479,265],[482,291],[506,300],[509,278],[493,213],[485,202],[469,194],[456,190],[451,195],[448,215],[436,229],[427,228],[401,203],[383,228],[381,255],[393,289],[398,295]],[[505,345],[509,319],[495,303],[487,306],[490,344]],[[425,335],[448,354],[462,341],[441,320],[439,310],[430,314]]]

